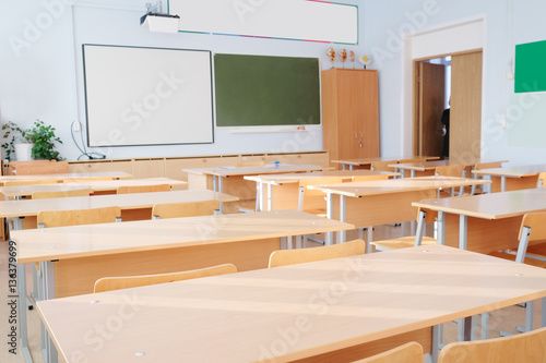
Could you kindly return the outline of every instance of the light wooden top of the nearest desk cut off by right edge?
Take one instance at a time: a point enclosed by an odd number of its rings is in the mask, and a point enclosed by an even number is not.
[[[546,190],[526,189],[454,198],[422,201],[416,207],[483,219],[501,219],[546,210]]]

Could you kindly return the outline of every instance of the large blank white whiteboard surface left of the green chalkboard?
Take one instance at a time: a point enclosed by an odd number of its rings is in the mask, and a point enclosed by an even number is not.
[[[83,45],[91,147],[213,143],[211,52]]]

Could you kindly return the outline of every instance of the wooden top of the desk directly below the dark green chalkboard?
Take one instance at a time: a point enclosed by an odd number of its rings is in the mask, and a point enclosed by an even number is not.
[[[185,172],[216,177],[245,177],[259,174],[277,174],[287,172],[309,172],[325,170],[328,167],[317,165],[293,165],[293,164],[268,164],[258,167],[215,167],[183,169]]]

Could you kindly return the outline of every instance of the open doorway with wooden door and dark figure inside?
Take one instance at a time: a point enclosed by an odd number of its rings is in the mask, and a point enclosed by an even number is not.
[[[414,62],[415,155],[478,160],[483,52]]]

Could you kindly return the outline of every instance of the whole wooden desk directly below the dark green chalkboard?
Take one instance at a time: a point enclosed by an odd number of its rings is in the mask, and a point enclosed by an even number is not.
[[[253,182],[245,180],[245,177],[311,172],[324,169],[328,169],[328,167],[314,165],[268,164],[258,167],[217,167],[185,169],[183,171],[188,173],[190,190],[212,189],[216,192],[225,192],[238,196],[242,202],[240,206],[252,208],[256,205],[257,196],[260,195],[260,191],[256,189]]]

